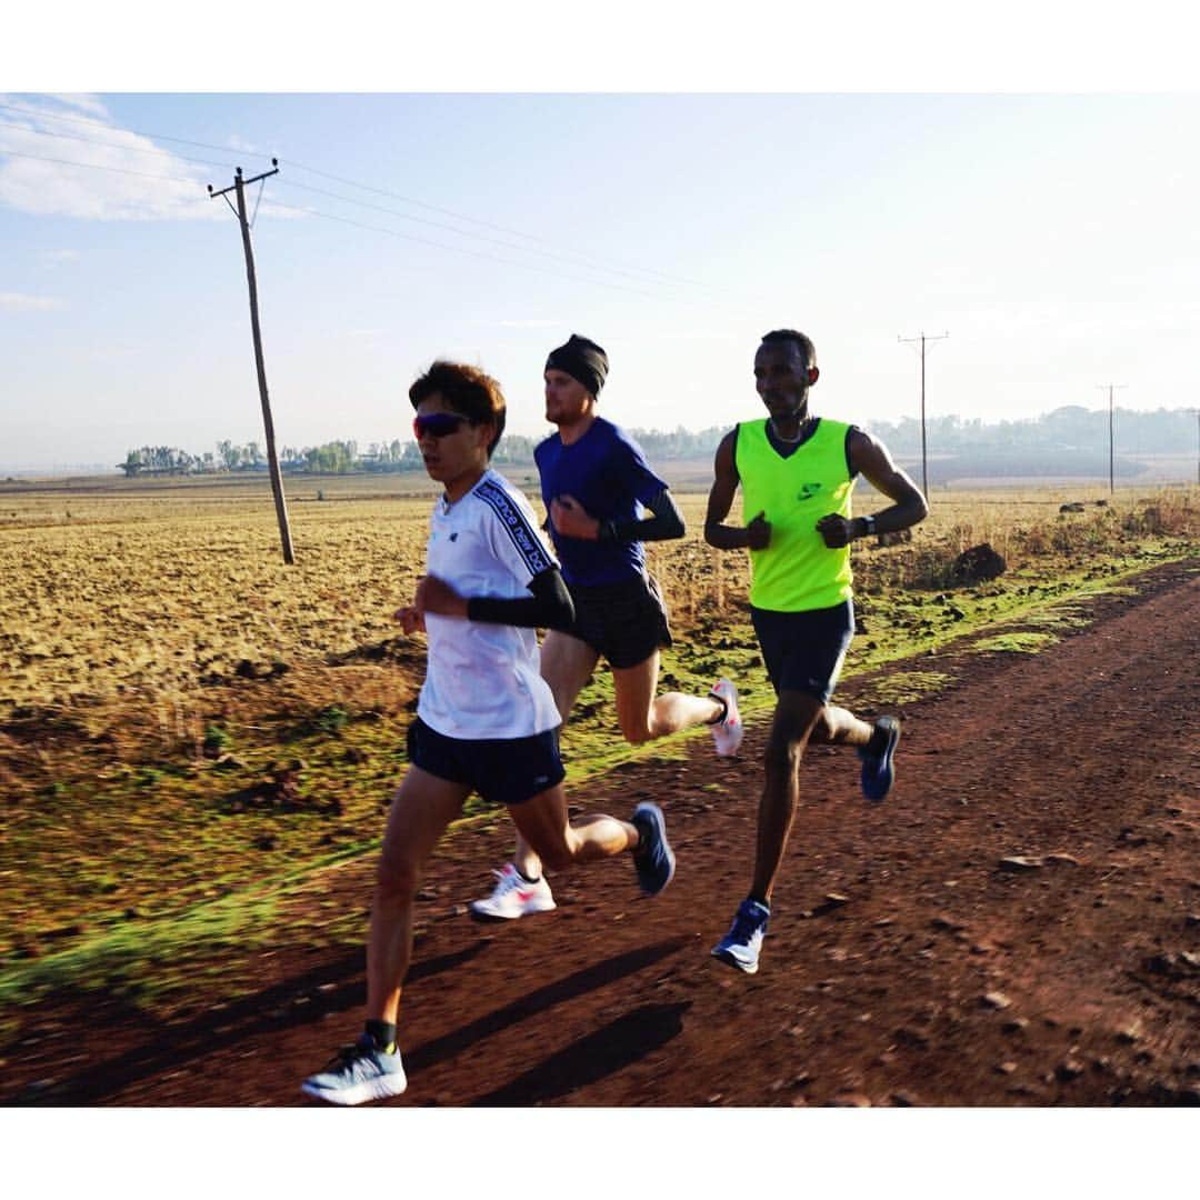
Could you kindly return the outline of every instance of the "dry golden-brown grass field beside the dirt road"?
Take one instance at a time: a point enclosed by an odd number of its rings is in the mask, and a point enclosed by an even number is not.
[[[240,895],[232,924],[209,932],[244,936],[246,889],[378,836],[424,671],[424,638],[391,614],[421,568],[432,487],[354,476],[288,490],[292,568],[264,480],[0,490],[0,1001],[31,984],[31,962],[199,902]],[[660,686],[733,673],[752,713],[770,697],[745,558],[703,544],[702,490],[679,496],[686,538],[650,551],[676,634]],[[1082,508],[1060,512],[1067,502]],[[859,511],[880,506],[857,497]],[[1198,511],[1195,488],[1111,503],[1086,487],[936,494],[911,542],[856,550],[863,636],[847,674],[982,626],[1002,649],[1037,649],[1073,619],[1073,595],[1194,553]],[[1006,574],[955,587],[955,557],[984,541]],[[908,662],[877,698],[937,683]],[[564,738],[576,785],[678,752],[624,745],[607,696],[601,670]],[[348,916],[354,940],[361,917]]]

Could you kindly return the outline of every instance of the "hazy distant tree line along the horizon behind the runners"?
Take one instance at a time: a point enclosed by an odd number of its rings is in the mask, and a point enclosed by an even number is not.
[[[727,425],[707,430],[631,430],[652,462],[696,458],[713,454]],[[920,454],[920,422],[904,416],[896,422],[874,421],[870,431],[900,458]],[[949,458],[959,474],[1096,474],[1106,470],[1109,414],[1106,409],[1079,406],[1020,421],[985,425],[978,418],[936,416],[926,421],[931,458],[942,460],[944,475]],[[1195,410],[1159,408],[1151,413],[1117,409],[1116,444],[1120,454],[1178,454],[1195,446]],[[496,448],[497,464],[527,467],[533,463],[540,438],[505,434]],[[265,472],[266,455],[257,442],[234,445],[218,442],[216,452],[188,454],[175,446],[142,446],[130,450],[118,467],[132,475],[193,475],[217,472]],[[358,442],[326,442],[319,446],[283,446],[280,467],[287,474],[347,475],[355,472],[419,470],[421,455],[413,440],[372,442],[365,450]],[[970,469],[967,469],[970,467]],[[1124,463],[1128,474],[1135,464]]]

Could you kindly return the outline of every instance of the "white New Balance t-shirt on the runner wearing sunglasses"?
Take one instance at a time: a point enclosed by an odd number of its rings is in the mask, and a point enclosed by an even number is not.
[[[553,554],[538,532],[529,502],[488,469],[460,500],[438,500],[425,556],[430,575],[464,596],[528,596],[529,581]],[[538,670],[532,629],[425,614],[428,662],[416,715],[451,738],[526,738],[560,718]]]

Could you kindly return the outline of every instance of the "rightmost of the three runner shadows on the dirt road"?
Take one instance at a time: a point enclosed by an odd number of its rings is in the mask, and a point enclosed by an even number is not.
[[[595,1084],[677,1038],[689,1008],[691,1001],[635,1008],[470,1104],[473,1108],[544,1104]]]

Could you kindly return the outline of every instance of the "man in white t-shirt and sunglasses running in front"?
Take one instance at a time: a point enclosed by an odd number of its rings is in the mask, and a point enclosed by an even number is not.
[[[413,948],[413,902],[438,839],[472,792],[508,806],[521,836],[563,870],[629,851],[648,895],[674,875],[662,812],[568,821],[558,709],[539,672],[539,626],[568,629],[574,607],[528,502],[488,462],[504,431],[499,384],[475,367],[434,362],[409,389],[425,468],[445,492],[430,526],[412,605],[428,665],[408,731],[409,768],[392,800],[371,908],[365,1031],[304,1091],[334,1104],[398,1096],[400,992]]]

